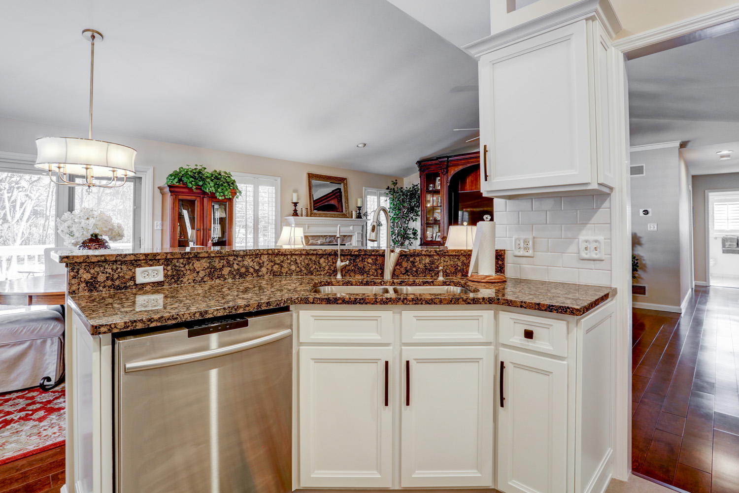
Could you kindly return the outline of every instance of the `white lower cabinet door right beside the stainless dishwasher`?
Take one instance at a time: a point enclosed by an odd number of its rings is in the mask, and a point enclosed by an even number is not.
[[[391,486],[392,349],[301,347],[299,358],[300,486]]]

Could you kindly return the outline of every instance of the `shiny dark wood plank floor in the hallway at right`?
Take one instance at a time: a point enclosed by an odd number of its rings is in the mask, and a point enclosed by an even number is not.
[[[682,316],[633,313],[632,469],[739,492],[739,289],[696,288]]]

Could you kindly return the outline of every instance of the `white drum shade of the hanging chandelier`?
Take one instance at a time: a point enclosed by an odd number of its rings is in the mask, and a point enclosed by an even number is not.
[[[136,150],[103,140],[78,139],[74,137],[41,137],[36,139],[35,167],[84,176],[92,169],[95,177],[133,176]],[[62,168],[64,166],[64,168]]]

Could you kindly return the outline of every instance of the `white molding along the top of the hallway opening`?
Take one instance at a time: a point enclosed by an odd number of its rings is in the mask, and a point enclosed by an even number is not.
[[[684,19],[682,21],[673,22],[666,26],[657,27],[644,33],[627,36],[613,41],[613,47],[616,50],[624,52],[627,58],[638,58],[650,54],[650,52],[667,50],[671,47],[681,46],[693,41],[699,41],[704,38],[713,38],[717,35],[732,33],[738,30],[739,26],[732,25],[734,21],[739,21],[739,4],[725,7],[723,9],[713,10],[712,12]],[[732,23],[721,27],[720,24]],[[708,33],[698,35],[697,31],[708,30],[715,27]],[[693,35],[695,34],[695,35]],[[689,36],[693,35],[693,36]],[[684,39],[680,39],[685,37]],[[664,47],[658,47],[657,50],[650,52],[639,52],[651,45],[666,43]],[[631,52],[631,53],[630,53]]]

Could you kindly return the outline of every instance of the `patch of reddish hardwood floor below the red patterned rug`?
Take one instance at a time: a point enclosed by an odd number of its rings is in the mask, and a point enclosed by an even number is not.
[[[58,493],[64,484],[64,445],[0,466],[0,493]]]

